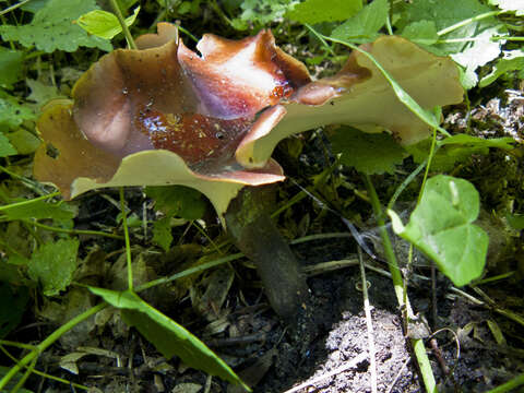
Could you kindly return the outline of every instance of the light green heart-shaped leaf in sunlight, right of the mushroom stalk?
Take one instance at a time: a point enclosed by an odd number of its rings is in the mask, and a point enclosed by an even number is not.
[[[479,196],[464,179],[438,175],[428,180],[419,205],[404,227],[389,211],[393,230],[431,258],[456,286],[478,278],[486,264],[488,235],[472,224]]]

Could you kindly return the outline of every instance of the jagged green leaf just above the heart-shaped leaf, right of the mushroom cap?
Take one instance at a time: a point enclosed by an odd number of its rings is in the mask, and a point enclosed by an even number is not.
[[[488,154],[489,147],[512,150],[514,140],[511,138],[481,139],[467,134],[456,134],[437,143],[439,147],[431,160],[431,169],[448,171],[458,163],[466,162],[474,154]],[[421,141],[415,145],[406,146],[406,151],[413,155],[415,163],[426,160],[431,147],[431,140]]]

